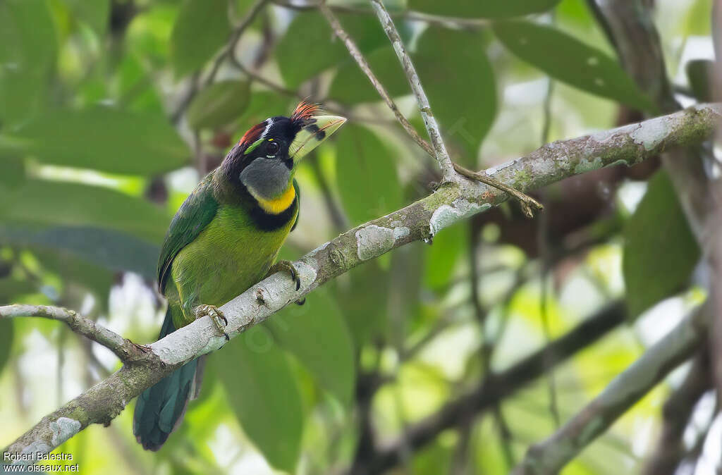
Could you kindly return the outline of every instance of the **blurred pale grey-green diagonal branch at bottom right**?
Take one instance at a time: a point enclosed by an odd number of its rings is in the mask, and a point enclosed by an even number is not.
[[[563,466],[604,433],[671,370],[689,359],[707,337],[707,331],[705,312],[695,311],[684,318],[560,430],[547,440],[532,445],[513,475],[558,474]]]

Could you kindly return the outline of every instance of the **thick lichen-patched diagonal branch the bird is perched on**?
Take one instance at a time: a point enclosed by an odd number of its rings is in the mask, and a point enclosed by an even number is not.
[[[722,105],[690,108],[591,136],[556,141],[486,173],[513,188],[529,191],[608,165],[635,165],[669,147],[697,144],[713,133],[721,117]],[[290,276],[279,273],[227,302],[221,307],[228,319],[226,330],[230,336],[238,336],[349,269],[401,245],[430,240],[445,227],[507,198],[503,191],[475,181],[445,183],[430,196],[344,232],[303,256],[295,262],[300,289]],[[223,344],[225,338],[211,319],[199,318],[149,345],[149,352],[138,360],[44,417],[6,451],[48,452],[90,424],[109,423],[144,389]]]

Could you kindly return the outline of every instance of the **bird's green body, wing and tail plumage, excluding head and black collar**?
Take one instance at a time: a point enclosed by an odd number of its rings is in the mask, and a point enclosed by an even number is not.
[[[158,262],[160,292],[168,299],[160,337],[195,320],[196,306],[223,305],[263,279],[298,218],[299,196],[292,219],[274,230],[261,230],[248,206],[229,203],[214,174],[188,196],[175,214]],[[293,186],[298,193],[297,183]],[[196,396],[193,360],[138,398],[134,432],[144,448],[157,450]]]

